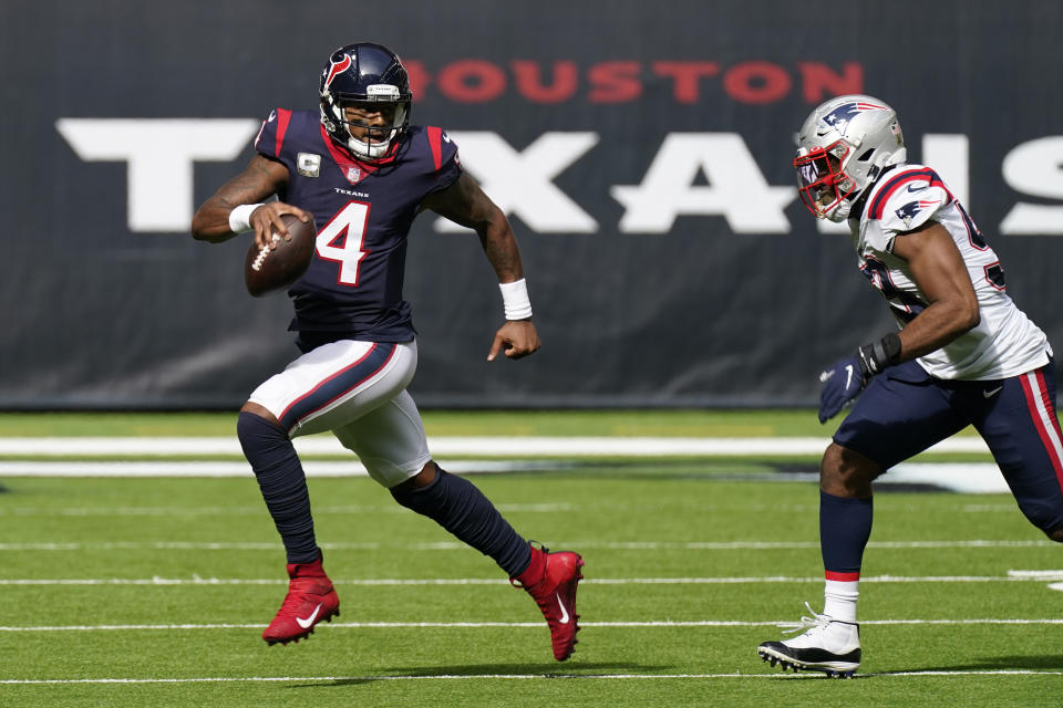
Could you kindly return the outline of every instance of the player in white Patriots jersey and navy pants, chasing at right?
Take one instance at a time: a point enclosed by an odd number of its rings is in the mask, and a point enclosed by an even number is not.
[[[899,332],[819,376],[821,423],[855,402],[819,468],[824,610],[808,607],[792,627],[803,633],[757,653],[784,670],[848,677],[860,663],[871,481],[973,425],[1025,517],[1063,542],[1063,434],[1044,333],[1008,296],[1000,260],[948,186],[906,163],[896,112],[871,96],[832,98],[797,143],[802,200],[817,218],[848,222],[859,269]]]

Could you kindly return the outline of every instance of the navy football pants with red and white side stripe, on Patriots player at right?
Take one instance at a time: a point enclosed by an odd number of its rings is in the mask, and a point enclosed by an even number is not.
[[[1063,525],[1063,434],[1055,364],[998,381],[945,381],[916,362],[891,366],[857,399],[834,441],[884,470],[973,425],[1035,527]]]

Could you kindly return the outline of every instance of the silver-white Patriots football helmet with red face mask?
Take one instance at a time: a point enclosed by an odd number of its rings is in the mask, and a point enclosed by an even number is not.
[[[896,111],[871,96],[830,98],[797,134],[801,199],[817,218],[845,221],[883,168],[907,157]]]

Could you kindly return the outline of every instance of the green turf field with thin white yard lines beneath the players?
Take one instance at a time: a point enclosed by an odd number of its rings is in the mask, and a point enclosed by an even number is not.
[[[446,417],[430,428],[462,426]],[[33,434],[12,433],[14,418],[4,435]],[[91,418],[76,435],[175,435],[152,416]],[[0,705],[1063,705],[1063,549],[1008,496],[879,493],[857,678],[761,663],[775,623],[822,604],[817,490],[730,465],[474,477],[520,533],[584,553],[584,629],[564,664],[489,560],[364,478],[310,480],[342,615],[275,647],[259,634],[283,597],[283,555],[251,479],[0,478]]]

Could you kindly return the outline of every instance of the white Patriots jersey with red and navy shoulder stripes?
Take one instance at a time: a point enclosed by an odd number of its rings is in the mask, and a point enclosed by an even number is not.
[[[978,295],[981,322],[917,360],[938,378],[1008,378],[1049,363],[1051,348],[1038,325],[1004,288],[1000,260],[941,178],[922,165],[899,165],[871,186],[859,221],[849,219],[860,271],[889,301],[901,329],[929,305],[908,262],[894,256],[894,238],[927,221],[952,235]]]

